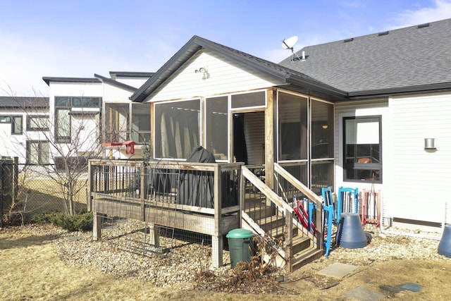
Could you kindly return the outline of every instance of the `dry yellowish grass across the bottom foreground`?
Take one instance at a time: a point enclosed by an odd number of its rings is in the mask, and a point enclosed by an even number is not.
[[[322,258],[285,277],[280,290],[287,295],[261,294],[263,289],[237,294],[214,293],[208,287],[156,288],[147,281],[102,273],[94,266],[63,262],[51,236],[63,231],[39,227],[0,229],[0,300],[347,300],[343,293],[352,288],[383,292],[381,285],[402,283],[418,283],[421,291],[385,295],[395,300],[451,299],[449,259],[374,262],[338,279],[317,274],[335,262]]]

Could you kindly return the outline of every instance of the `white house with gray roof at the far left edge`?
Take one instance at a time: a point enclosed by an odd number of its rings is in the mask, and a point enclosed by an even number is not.
[[[49,164],[49,98],[0,97],[0,156],[20,164]]]

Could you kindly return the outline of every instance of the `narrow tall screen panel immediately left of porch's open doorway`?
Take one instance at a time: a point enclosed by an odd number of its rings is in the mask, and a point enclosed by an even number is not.
[[[205,100],[206,149],[216,160],[228,159],[228,97]]]

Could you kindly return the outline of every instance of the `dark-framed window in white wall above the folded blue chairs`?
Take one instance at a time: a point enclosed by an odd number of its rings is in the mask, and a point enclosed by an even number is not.
[[[343,118],[344,180],[382,182],[381,116]]]

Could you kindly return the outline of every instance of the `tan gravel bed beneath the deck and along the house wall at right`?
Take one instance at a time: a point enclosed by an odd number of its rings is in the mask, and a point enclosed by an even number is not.
[[[142,256],[142,254],[125,252],[118,244],[118,239],[111,237],[113,233],[109,233],[108,229],[103,230],[102,240],[93,241],[92,233],[67,233],[49,226],[39,227],[42,226],[32,226],[32,231],[47,233],[50,231],[59,257],[75,266],[80,264],[95,266],[106,273],[149,281],[161,288],[173,287],[183,290],[199,288],[227,293],[254,291],[265,293],[263,290],[266,290],[266,293],[290,293],[280,290],[275,279],[280,275],[285,275],[285,279],[288,279],[292,274],[283,270],[273,270],[271,273],[260,275],[259,281],[256,281],[254,277],[249,276],[249,269],[244,269],[242,266],[235,271],[230,269],[230,257],[227,251],[223,252],[226,265],[209,270],[211,247],[206,245],[174,240],[173,252],[166,255],[147,253],[146,256]],[[390,232],[397,231],[400,229],[390,228]],[[369,266],[393,259],[449,260],[437,253],[440,240],[438,233],[409,231],[408,234],[372,233],[371,242],[366,247],[354,250],[335,247],[328,258],[321,257],[307,264],[302,267],[301,273],[309,270],[319,271],[333,262]],[[139,238],[142,233],[135,233],[135,235]],[[249,282],[252,285],[249,285]]]

